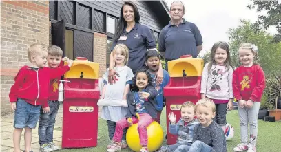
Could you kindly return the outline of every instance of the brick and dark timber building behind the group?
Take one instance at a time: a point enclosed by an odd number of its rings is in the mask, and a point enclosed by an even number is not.
[[[164,1],[135,1],[141,23],[158,39],[169,22]],[[64,56],[87,57],[108,66],[112,38],[123,1],[1,1],[1,114],[9,113],[8,94],[20,67],[28,65],[32,43],[59,45]]]

